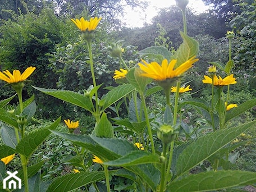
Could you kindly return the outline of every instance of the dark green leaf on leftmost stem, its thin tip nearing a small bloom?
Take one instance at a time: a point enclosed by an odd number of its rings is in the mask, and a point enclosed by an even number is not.
[[[35,130],[30,132],[28,135],[25,135],[16,147],[17,153],[20,153],[27,158],[30,157],[34,150],[44,141],[44,139],[51,134],[49,129],[56,129],[56,127],[60,124],[60,121],[61,117],[54,121],[53,124],[48,128]]]

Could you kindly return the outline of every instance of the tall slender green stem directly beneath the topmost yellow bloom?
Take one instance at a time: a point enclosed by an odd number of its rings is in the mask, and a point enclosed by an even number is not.
[[[95,75],[94,75],[94,67],[93,67],[93,53],[92,53],[92,40],[86,40],[88,44],[88,52],[89,52],[89,58],[90,58],[90,70],[92,73],[92,79],[93,79],[93,86],[94,88],[97,86]],[[100,120],[100,114],[99,114],[99,103],[98,103],[98,92],[95,92],[95,105],[96,105],[96,112],[94,113],[96,122],[98,123]]]

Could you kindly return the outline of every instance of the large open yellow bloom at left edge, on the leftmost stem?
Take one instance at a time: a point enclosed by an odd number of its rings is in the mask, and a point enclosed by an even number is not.
[[[25,81],[33,72],[35,71],[35,67],[28,67],[21,74],[19,70],[13,70],[12,74],[9,70],[0,72],[0,79],[6,81],[7,83],[19,83]]]

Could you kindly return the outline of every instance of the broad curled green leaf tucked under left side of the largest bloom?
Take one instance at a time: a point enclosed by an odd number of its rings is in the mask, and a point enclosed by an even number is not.
[[[140,76],[144,72],[139,68],[131,68],[129,72],[126,74],[126,79],[129,81],[129,83],[139,91],[139,93],[143,93],[147,84],[152,81],[152,79],[149,79],[148,77]]]

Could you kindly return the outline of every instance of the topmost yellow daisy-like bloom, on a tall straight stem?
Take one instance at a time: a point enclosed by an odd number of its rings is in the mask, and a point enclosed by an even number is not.
[[[99,21],[102,19],[102,17],[98,18],[91,18],[90,21],[84,20],[84,17],[81,17],[81,19],[71,19],[71,21],[74,22],[74,24],[77,26],[78,29],[81,31],[94,31],[97,28],[97,25],[99,24]]]

